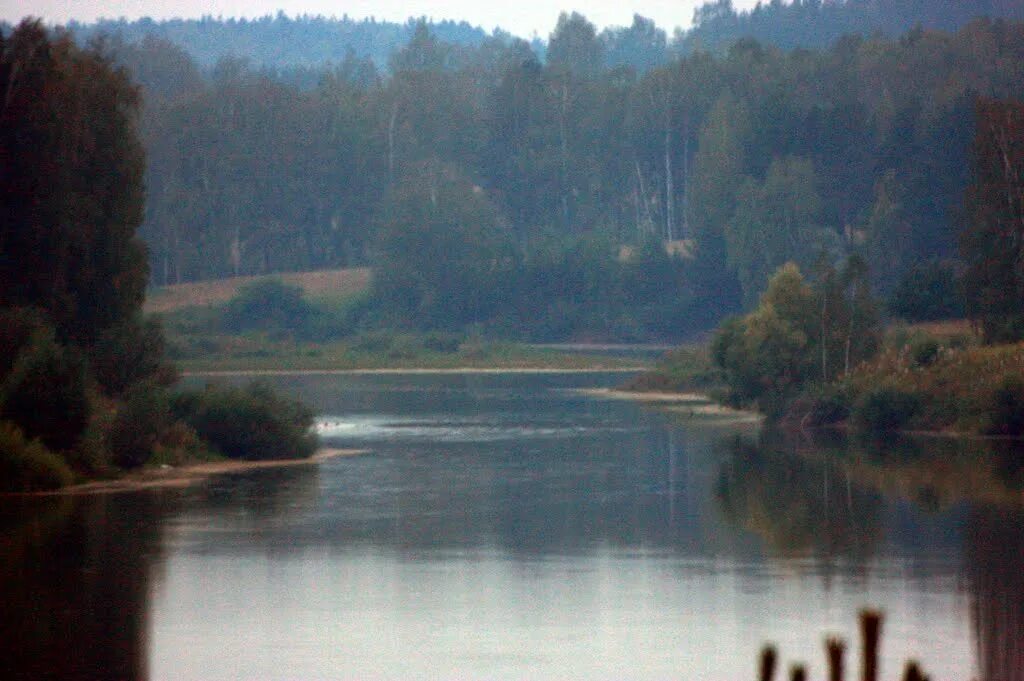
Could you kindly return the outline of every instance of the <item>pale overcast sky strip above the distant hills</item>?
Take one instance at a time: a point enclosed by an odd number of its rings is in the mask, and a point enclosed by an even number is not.
[[[493,0],[492,0],[493,1]],[[575,2],[575,6],[572,2]],[[757,0],[734,0],[737,8],[755,5]],[[566,0],[565,5],[551,0],[0,0],[0,18],[16,23],[26,14],[42,16],[47,23],[69,19],[91,22],[100,16],[138,18],[152,16],[262,16],[283,9],[290,15],[324,14],[353,18],[376,16],[403,22],[410,16],[426,15],[434,19],[465,19],[486,30],[497,26],[524,38],[536,32],[546,38],[555,26],[559,9],[577,9],[598,28],[625,26],[639,13],[653,18],[669,34],[676,27],[687,27],[693,8],[703,0],[600,0],[583,3]]]

